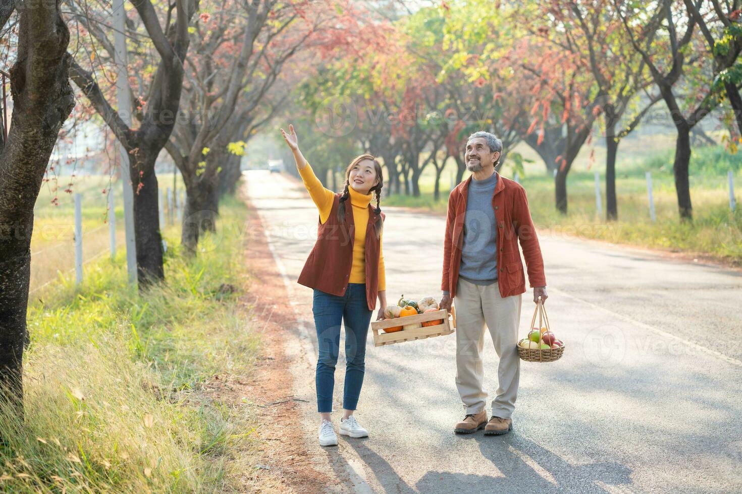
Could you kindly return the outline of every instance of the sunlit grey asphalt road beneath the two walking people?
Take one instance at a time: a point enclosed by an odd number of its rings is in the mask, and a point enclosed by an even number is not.
[[[742,492],[741,273],[568,236],[539,236],[546,307],[565,356],[522,362],[512,433],[453,433],[464,415],[453,335],[374,347],[369,332],[356,417],[370,437],[338,436],[338,447],[320,447],[312,290],[296,284],[318,213],[294,178],[264,171],[246,178],[301,321],[287,352],[295,396],[306,400],[302,439],[330,491]],[[384,210],[387,298],[439,298],[445,219]],[[523,296],[523,336],[532,296]],[[496,365],[487,341],[489,400]]]

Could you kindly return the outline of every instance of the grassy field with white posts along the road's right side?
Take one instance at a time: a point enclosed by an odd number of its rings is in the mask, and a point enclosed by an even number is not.
[[[542,161],[536,161],[533,152],[517,147],[527,157],[528,164],[521,184],[528,192],[528,202],[533,221],[542,230],[554,230],[568,235],[596,238],[620,244],[661,248],[710,256],[742,266],[742,211],[729,210],[729,190],[726,171],[735,173],[735,195],[741,201],[742,153],[730,155],[723,147],[694,148],[691,161],[692,223],[680,221],[677,213],[672,176],[673,151],[666,147],[672,143],[666,136],[654,138],[659,144],[651,148],[646,138],[622,143],[617,160],[617,197],[619,221],[605,220],[605,165],[601,148],[596,147],[595,161],[591,166],[583,150],[568,175],[568,214],[557,212],[554,205],[554,179],[545,173]],[[637,144],[638,143],[638,144]],[[646,153],[647,148],[657,149]],[[645,150],[641,153],[641,148]],[[529,154],[531,153],[531,154]],[[441,200],[433,201],[434,170],[425,170],[420,180],[421,197],[390,196],[384,205],[421,207],[444,214],[447,207],[450,176],[455,170],[453,160],[447,164],[441,178]],[[603,216],[597,216],[595,204],[594,172],[599,172]],[[651,171],[654,206],[657,222],[649,216],[646,190],[646,171]],[[505,167],[502,174],[512,177]],[[464,174],[464,178],[468,173]]]

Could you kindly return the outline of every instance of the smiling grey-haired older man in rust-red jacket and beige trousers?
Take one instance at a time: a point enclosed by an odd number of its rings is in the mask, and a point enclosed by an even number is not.
[[[473,133],[464,161],[472,175],[448,198],[440,307],[456,302],[456,387],[466,416],[456,433],[486,435],[513,430],[520,359],[518,324],[525,276],[523,250],[533,301],[546,300],[546,278],[539,240],[531,221],[525,190],[495,171],[502,141],[488,132]],[[485,324],[499,356],[497,394],[487,421],[482,389]]]

